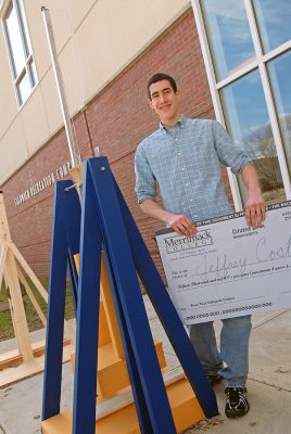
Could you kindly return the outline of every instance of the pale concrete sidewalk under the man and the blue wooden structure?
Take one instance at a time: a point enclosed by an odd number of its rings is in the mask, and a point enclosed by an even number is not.
[[[162,340],[167,366],[179,361],[167,341],[156,315],[144,296],[153,336]],[[217,322],[217,333],[219,322]],[[43,331],[34,334],[43,337]],[[11,343],[0,343],[0,353]],[[220,414],[200,422],[187,434],[287,434],[291,432],[291,310],[253,316],[248,396],[250,412],[238,420],[225,417],[224,386],[215,387]],[[62,409],[72,407],[73,374],[69,363],[63,366]],[[0,434],[41,433],[40,413],[42,374],[0,390]],[[115,434],[115,433],[110,433]],[[117,434],[117,433],[116,433]],[[167,434],[167,433],[163,433]]]

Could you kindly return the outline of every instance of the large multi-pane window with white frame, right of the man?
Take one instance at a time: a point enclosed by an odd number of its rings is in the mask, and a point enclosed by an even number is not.
[[[216,118],[249,150],[267,204],[291,199],[291,2],[192,0]],[[229,171],[237,208],[245,201]]]

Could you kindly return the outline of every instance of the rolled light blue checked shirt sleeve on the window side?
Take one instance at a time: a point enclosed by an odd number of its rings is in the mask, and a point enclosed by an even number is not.
[[[216,120],[212,123],[214,146],[220,163],[229,166],[233,174],[241,171],[245,164],[252,164],[252,158],[245,151],[233,143],[225,128]]]

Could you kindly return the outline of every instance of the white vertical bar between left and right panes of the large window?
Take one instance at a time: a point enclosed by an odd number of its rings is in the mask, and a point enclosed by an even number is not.
[[[287,200],[290,200],[291,199],[291,187],[290,187],[288,166],[287,166],[286,157],[284,157],[284,149],[283,149],[281,132],[280,132],[278,119],[277,119],[276,110],[275,110],[274,99],[273,99],[273,94],[271,94],[271,90],[270,90],[267,67],[264,62],[263,47],[261,43],[251,0],[244,0],[244,7],[245,7],[246,16],[248,16],[248,20],[250,23],[254,49],[255,49],[255,53],[256,53],[256,58],[257,58],[258,71],[261,74],[263,90],[264,90],[264,94],[265,94],[265,99],[266,99],[270,126],[271,126],[273,133],[274,133],[275,146],[277,150],[278,162],[279,162],[279,166],[280,166],[280,170],[281,170],[281,175],[282,175],[283,187],[284,187]]]

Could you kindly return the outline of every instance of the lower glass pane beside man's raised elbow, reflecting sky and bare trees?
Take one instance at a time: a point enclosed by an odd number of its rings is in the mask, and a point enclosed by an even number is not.
[[[220,93],[227,129],[233,141],[253,158],[266,203],[286,200],[258,71],[223,88]],[[238,181],[245,200],[240,177]]]

